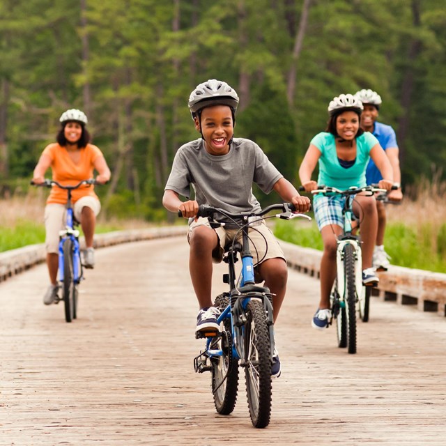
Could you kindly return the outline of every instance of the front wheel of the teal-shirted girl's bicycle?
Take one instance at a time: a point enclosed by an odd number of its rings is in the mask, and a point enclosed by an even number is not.
[[[347,346],[348,353],[356,353],[356,285],[355,285],[355,251],[352,245],[344,247],[344,272],[346,322],[347,322]]]

